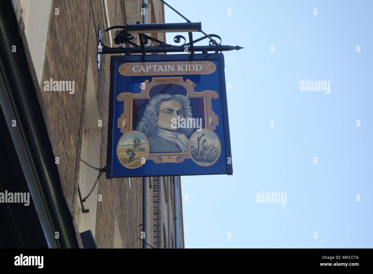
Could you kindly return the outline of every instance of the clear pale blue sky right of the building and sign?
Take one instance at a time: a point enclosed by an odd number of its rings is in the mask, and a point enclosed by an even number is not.
[[[373,2],[167,3],[244,47],[224,53],[233,176],[181,178],[185,247],[372,248]],[[306,79],[330,94],[300,91]],[[257,203],[263,190],[286,206]]]

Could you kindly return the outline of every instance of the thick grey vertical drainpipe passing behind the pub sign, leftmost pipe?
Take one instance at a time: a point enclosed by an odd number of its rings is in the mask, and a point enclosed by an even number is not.
[[[142,23],[148,23],[148,0],[142,0],[142,8],[144,8],[144,14],[142,15]],[[149,177],[142,178],[142,224],[145,226],[145,239],[142,242],[142,248],[149,248],[145,243],[150,243],[150,230],[152,229],[149,225]]]

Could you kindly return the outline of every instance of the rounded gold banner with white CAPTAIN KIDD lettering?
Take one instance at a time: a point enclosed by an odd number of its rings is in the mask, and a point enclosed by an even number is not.
[[[118,70],[124,76],[211,74],[216,66],[210,61],[146,62],[125,63]]]

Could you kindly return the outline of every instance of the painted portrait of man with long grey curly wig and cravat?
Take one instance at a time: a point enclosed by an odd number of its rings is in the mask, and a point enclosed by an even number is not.
[[[188,152],[192,128],[175,128],[173,118],[193,118],[189,99],[181,94],[156,94],[148,100],[136,130],[148,138],[150,153]]]

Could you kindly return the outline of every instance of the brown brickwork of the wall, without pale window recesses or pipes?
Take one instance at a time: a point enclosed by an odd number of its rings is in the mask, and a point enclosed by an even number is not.
[[[124,2],[124,3],[123,3]],[[152,1],[153,2],[153,1]],[[107,27],[104,0],[93,0],[93,13],[91,11],[90,33],[88,37],[87,65],[93,64],[94,85],[97,91],[97,102],[100,119],[103,121],[100,147],[100,167],[106,164],[107,149],[107,118],[109,107],[110,83],[110,55],[101,55],[100,74],[98,74],[97,60],[97,33],[100,24]],[[160,1],[151,3],[157,22],[162,22],[162,6]],[[141,21],[140,0],[107,0],[110,25],[125,25]],[[54,9],[59,8],[60,14],[54,15]],[[41,83],[52,78],[53,80],[75,81],[75,94],[58,91],[44,91],[43,85],[38,90],[38,100],[43,111],[51,140],[53,152],[59,157],[58,170],[61,177],[62,189],[66,201],[74,214],[77,199],[77,186],[79,163],[76,165],[76,149],[79,139],[79,126],[81,130],[81,107],[84,104],[85,94],[85,54],[87,49],[89,1],[53,0],[48,25],[48,34],[45,48],[45,59]],[[126,22],[125,22],[126,21]],[[151,21],[149,21],[151,22]],[[96,27],[96,29],[95,29]],[[114,38],[115,30],[112,31]],[[163,38],[163,34],[160,34]],[[109,45],[109,43],[107,43]],[[113,43],[113,46],[116,46]],[[84,117],[84,111],[82,113]],[[81,134],[82,135],[82,134]],[[81,138],[80,135],[80,138]],[[81,144],[81,139],[79,144]],[[80,145],[78,159],[80,158]],[[92,170],[92,172],[97,172]],[[76,179],[76,180],[75,180]],[[131,187],[130,187],[130,181]],[[163,224],[167,229],[167,205],[162,200],[162,177],[150,180],[150,224],[152,226],[149,242],[156,248],[162,248]],[[94,182],[92,182],[93,185]],[[170,186],[172,182],[170,182]],[[171,188],[170,188],[171,189]],[[85,196],[87,193],[82,193]],[[99,248],[112,248],[114,242],[115,215],[119,224],[123,248],[141,248],[142,242],[137,237],[142,223],[142,180],[141,178],[121,178],[107,180],[101,176],[98,182],[98,194],[103,197],[97,202],[95,240]],[[171,200],[171,199],[170,199]],[[169,201],[170,202],[170,201]],[[172,201],[173,202],[173,201]],[[153,207],[154,205],[154,207]],[[173,214],[173,213],[172,213]],[[166,218],[166,219],[164,219]],[[165,221],[166,220],[166,221]],[[173,228],[173,215],[171,217]],[[174,232],[172,232],[175,235]],[[168,231],[166,231],[168,235]],[[170,239],[167,239],[168,241]]]

